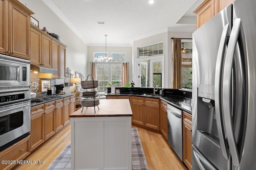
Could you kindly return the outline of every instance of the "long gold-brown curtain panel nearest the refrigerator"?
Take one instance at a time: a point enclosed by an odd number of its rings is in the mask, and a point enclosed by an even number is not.
[[[182,87],[181,80],[181,39],[173,39],[173,55],[172,55],[172,88],[180,89]]]

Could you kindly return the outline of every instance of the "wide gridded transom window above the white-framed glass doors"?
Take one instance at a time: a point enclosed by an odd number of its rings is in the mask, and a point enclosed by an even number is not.
[[[163,54],[163,43],[156,43],[138,48],[139,58]]]

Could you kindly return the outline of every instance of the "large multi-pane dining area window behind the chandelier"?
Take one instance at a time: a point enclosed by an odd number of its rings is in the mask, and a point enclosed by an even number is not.
[[[125,53],[111,53],[111,61],[102,61],[99,58],[105,53],[94,53],[96,61],[96,76],[98,80],[98,91],[106,91],[108,84],[116,83],[116,87],[122,85],[122,63],[125,61]]]

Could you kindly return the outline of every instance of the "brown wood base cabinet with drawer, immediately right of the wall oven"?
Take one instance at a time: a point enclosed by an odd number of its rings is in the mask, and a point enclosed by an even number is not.
[[[44,104],[31,109],[31,151],[44,142]]]

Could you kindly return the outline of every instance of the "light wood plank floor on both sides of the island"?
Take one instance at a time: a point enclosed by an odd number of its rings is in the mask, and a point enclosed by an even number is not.
[[[136,126],[132,126],[136,127]],[[168,145],[162,134],[137,127],[149,170],[188,170]],[[55,134],[27,160],[44,161],[45,164],[19,165],[17,170],[45,170],[70,142],[70,125]]]

